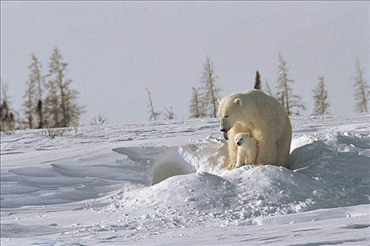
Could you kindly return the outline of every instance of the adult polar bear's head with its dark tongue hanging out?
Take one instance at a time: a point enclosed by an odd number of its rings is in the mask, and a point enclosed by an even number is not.
[[[229,139],[227,131],[234,126],[241,115],[243,101],[238,96],[227,96],[219,101],[219,130],[224,132],[224,138]]]

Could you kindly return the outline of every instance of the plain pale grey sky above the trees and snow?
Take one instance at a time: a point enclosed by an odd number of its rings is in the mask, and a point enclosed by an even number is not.
[[[57,46],[87,109],[82,124],[99,113],[147,121],[145,87],[156,110],[186,119],[206,56],[226,96],[252,88],[256,69],[274,89],[280,51],[302,113],[323,75],[330,112],[347,115],[356,57],[369,82],[369,11],[369,1],[1,1],[1,81],[20,111],[31,54],[46,72]]]

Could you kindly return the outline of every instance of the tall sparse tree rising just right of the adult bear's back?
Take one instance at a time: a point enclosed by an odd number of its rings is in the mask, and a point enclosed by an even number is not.
[[[288,77],[289,68],[286,60],[283,59],[279,52],[279,78],[278,78],[278,93],[276,98],[280,101],[288,115],[292,114],[292,108],[297,108],[296,113],[299,114],[299,109],[305,110],[305,105],[302,103],[302,97],[293,94],[290,84],[294,82]]]

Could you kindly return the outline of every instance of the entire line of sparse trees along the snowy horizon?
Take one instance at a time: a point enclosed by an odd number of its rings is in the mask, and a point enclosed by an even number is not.
[[[269,86],[267,80],[262,85],[260,72],[255,74],[254,88],[260,89],[265,93],[274,96],[288,115],[299,115],[301,110],[306,110],[302,103],[302,96],[293,92],[294,82],[289,77],[289,67],[279,52],[279,74],[275,91]],[[42,71],[42,64],[37,56],[32,54],[29,65],[29,75],[26,82],[27,87],[23,96],[23,114],[16,112],[9,105],[7,88],[1,82],[1,102],[0,102],[0,130],[11,132],[14,129],[42,129],[55,127],[75,127],[78,125],[79,116],[84,112],[84,107],[77,103],[79,92],[70,88],[71,79],[66,78],[68,63],[63,61],[63,57],[58,48],[53,49],[49,61],[48,72]],[[324,75],[317,77],[317,85],[312,90],[314,98],[314,113],[326,114],[330,106],[328,91],[326,90]],[[364,80],[364,72],[357,59],[355,72],[352,75],[352,86],[354,89],[355,111],[369,112],[369,84]],[[217,76],[215,67],[209,56],[205,58],[203,64],[203,75],[200,86],[193,86],[191,100],[189,103],[189,117],[217,117],[219,92],[221,89],[216,84]],[[245,89],[250,89],[252,84],[245,84]],[[175,119],[176,115],[172,107],[165,108],[165,112],[155,110],[151,92],[148,93],[149,119]],[[102,115],[98,119],[91,120],[91,124],[106,124],[108,121]]]

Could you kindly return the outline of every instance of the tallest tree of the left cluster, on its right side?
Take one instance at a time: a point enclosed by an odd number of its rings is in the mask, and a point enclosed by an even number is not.
[[[47,88],[49,94],[46,97],[46,107],[49,115],[52,115],[53,127],[69,127],[75,122],[79,122],[79,115],[84,112],[83,108],[77,104],[79,92],[70,89],[71,79],[65,78],[68,63],[63,62],[63,57],[54,48],[49,63],[49,82]]]

